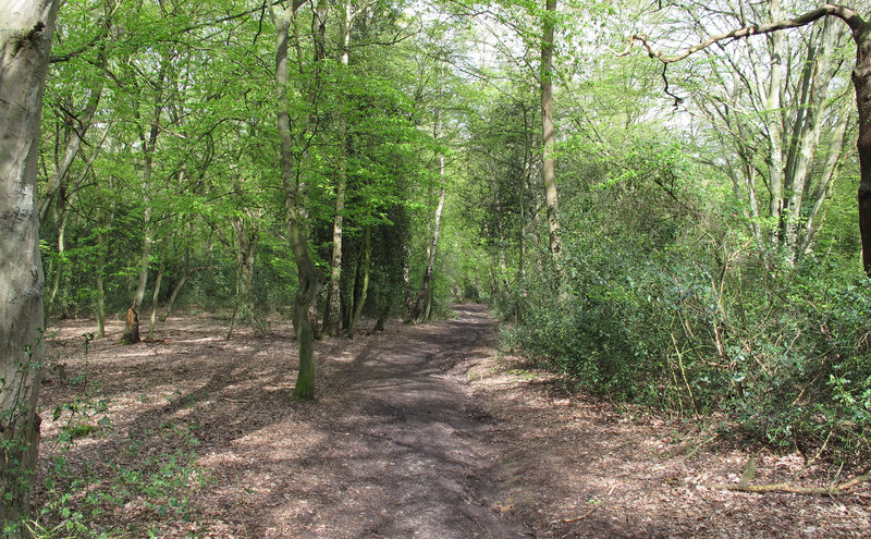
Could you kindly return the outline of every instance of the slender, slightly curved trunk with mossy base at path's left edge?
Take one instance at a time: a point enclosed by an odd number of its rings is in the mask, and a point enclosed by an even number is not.
[[[287,96],[287,49],[291,39],[290,28],[294,13],[300,5],[292,3],[280,13],[270,7],[275,24],[275,106],[278,131],[281,137],[281,176],[284,186],[284,201],[287,219],[287,237],[299,278],[294,302],[294,331],[299,346],[299,373],[293,391],[293,399],[309,401],[315,397],[315,332],[308,317],[311,303],[320,286],[320,275],[305,235],[305,208],[299,185],[299,170],[294,162],[294,139],[291,132],[290,99]]]

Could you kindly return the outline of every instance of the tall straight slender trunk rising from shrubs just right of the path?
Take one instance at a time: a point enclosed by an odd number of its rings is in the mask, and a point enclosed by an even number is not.
[[[560,237],[560,209],[556,197],[556,171],[553,164],[553,34],[556,24],[556,0],[545,0],[544,36],[541,44],[541,127],[542,127],[542,176],[544,201],[548,211],[548,236],[551,256],[559,261],[563,250]]]

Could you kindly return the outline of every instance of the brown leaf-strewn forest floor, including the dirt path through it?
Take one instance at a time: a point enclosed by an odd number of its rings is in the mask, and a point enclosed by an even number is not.
[[[74,537],[871,537],[868,483],[837,498],[715,488],[739,480],[746,451],[568,394],[496,352],[484,306],[455,311],[318,342],[311,403],[290,401],[290,326],[228,341],[220,319],[189,315],[122,346],[119,322],[85,355],[91,322],[61,323],[39,524],[77,524]],[[825,486],[836,471],[797,454],[755,462],[753,483]]]

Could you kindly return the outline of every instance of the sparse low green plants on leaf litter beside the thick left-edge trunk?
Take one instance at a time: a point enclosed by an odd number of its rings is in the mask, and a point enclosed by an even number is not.
[[[85,354],[89,340],[85,335]],[[27,523],[30,535],[160,537],[165,523],[195,522],[194,495],[209,481],[197,462],[197,426],[167,421],[122,439],[99,382],[85,375],[64,383],[77,392],[53,412],[61,428],[40,454],[41,506]],[[86,452],[94,444],[95,452]]]

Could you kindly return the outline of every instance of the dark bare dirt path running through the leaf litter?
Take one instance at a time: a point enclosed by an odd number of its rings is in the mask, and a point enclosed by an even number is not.
[[[322,487],[306,536],[528,537],[499,511],[492,419],[453,369],[491,341],[492,321],[483,306],[456,313],[384,335],[331,377],[314,405],[333,414],[332,436],[305,465]]]

